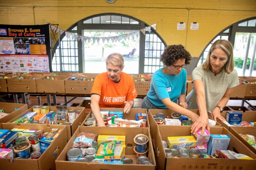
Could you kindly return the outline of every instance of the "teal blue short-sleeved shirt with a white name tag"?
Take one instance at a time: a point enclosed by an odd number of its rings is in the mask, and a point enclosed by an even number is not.
[[[180,95],[185,94],[187,71],[182,69],[179,75],[168,75],[163,73],[163,69],[164,67],[153,74],[147,96],[157,107],[167,109],[161,99],[170,98],[177,103]]]

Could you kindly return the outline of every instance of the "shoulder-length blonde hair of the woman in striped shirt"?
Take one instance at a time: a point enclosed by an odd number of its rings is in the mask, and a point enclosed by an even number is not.
[[[234,70],[233,46],[231,42],[227,40],[217,40],[212,44],[212,47],[210,48],[207,54],[207,58],[205,62],[202,64],[202,67],[204,69],[210,68],[210,56],[213,50],[216,48],[222,49],[228,55],[228,60],[223,66],[223,69],[226,73],[230,74]]]

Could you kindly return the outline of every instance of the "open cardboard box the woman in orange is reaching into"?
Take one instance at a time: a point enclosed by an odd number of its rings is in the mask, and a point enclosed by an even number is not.
[[[123,108],[100,108],[100,111],[123,112],[124,109]],[[147,128],[149,128],[150,126],[148,121],[147,109],[132,108],[128,114],[123,113],[123,119],[136,120],[136,113],[146,113]],[[86,122],[88,118],[91,118],[91,114],[92,114],[92,111],[85,118],[84,122]],[[84,126],[84,122],[81,124],[81,126]]]

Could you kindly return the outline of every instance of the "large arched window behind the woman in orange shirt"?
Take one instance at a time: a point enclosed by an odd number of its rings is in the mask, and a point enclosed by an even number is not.
[[[84,18],[67,31],[94,38],[82,43],[71,36],[67,38],[63,33],[60,36],[60,46],[57,42],[55,50],[52,50],[52,70],[105,72],[107,56],[117,52],[124,56],[124,72],[154,73],[163,66],[159,57],[166,43],[152,28],[145,35],[139,31],[147,26],[149,25],[136,18],[116,13]],[[98,37],[103,37],[104,40],[99,40]],[[113,37],[119,39],[112,40]]]

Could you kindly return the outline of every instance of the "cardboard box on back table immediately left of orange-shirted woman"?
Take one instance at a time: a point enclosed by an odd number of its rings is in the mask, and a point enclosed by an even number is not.
[[[84,76],[74,77],[84,78]],[[66,78],[65,91],[68,94],[91,94],[93,82],[94,81],[68,80],[68,78]]]

